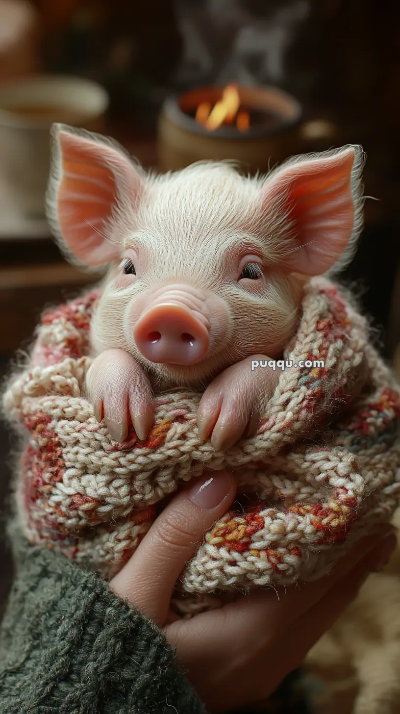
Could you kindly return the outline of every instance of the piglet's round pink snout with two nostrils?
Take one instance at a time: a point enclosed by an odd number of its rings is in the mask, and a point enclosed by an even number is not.
[[[197,298],[181,291],[161,295],[134,328],[139,352],[151,362],[192,365],[209,349],[209,318]]]

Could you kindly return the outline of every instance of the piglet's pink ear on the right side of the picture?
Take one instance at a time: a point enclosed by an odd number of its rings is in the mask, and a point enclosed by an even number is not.
[[[277,169],[263,192],[264,213],[289,223],[283,263],[321,275],[347,254],[361,229],[361,147],[304,156]],[[286,242],[286,241],[285,241]]]

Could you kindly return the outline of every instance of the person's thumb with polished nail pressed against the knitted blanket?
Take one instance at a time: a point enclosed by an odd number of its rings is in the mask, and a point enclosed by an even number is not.
[[[176,580],[206,532],[228,511],[235,494],[236,481],[226,471],[204,473],[180,491],[111,580],[114,593],[162,627]]]

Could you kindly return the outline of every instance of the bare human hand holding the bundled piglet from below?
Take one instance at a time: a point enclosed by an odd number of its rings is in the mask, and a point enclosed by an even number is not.
[[[234,478],[225,472],[191,483],[164,508],[110,583],[116,595],[164,629],[189,680],[215,713],[269,697],[396,545],[391,528],[381,526],[314,583],[257,590],[218,610],[179,619],[169,609],[174,585],[235,493]]]

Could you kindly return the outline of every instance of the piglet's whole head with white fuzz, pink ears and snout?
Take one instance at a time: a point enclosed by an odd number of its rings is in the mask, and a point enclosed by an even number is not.
[[[268,176],[200,162],[146,175],[120,146],[53,129],[47,213],[67,256],[108,266],[96,352],[131,353],[161,383],[206,383],[296,330],[304,281],[341,267],[361,229],[359,146]]]

